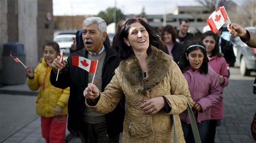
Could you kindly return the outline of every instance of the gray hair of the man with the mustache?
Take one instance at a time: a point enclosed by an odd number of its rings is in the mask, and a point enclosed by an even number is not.
[[[100,30],[100,34],[102,34],[103,32],[107,32],[107,24],[102,18],[89,17],[83,20],[83,26],[88,26],[93,23],[99,24],[98,28]]]

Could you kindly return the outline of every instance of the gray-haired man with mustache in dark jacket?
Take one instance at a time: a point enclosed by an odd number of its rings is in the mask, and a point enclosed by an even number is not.
[[[52,63],[50,81],[58,88],[70,87],[68,103],[68,129],[73,135],[79,133],[82,143],[119,143],[119,133],[123,131],[125,115],[124,104],[119,105],[106,115],[94,112],[85,106],[83,91],[87,83],[92,82],[93,73],[72,65],[72,56],[82,56],[89,60],[98,60],[94,84],[100,91],[112,77],[119,66],[117,52],[104,44],[106,38],[106,22],[99,17],[89,17],[83,21],[82,38],[85,48],[69,55],[65,65],[59,64],[59,56]],[[56,81],[58,68],[60,72]]]

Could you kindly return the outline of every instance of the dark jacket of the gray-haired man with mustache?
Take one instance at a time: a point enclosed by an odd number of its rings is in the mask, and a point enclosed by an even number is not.
[[[114,76],[114,70],[119,66],[121,59],[117,56],[117,52],[104,44],[106,57],[102,68],[102,91],[110,83]],[[82,56],[87,58],[88,51],[83,48],[69,55],[65,68],[58,75],[51,71],[50,82],[54,87],[65,89],[70,87],[70,96],[68,102],[68,130],[77,135],[82,121],[83,109],[85,106],[85,97],[83,91],[88,84],[88,72],[72,65],[72,56]],[[125,116],[124,103],[119,105],[111,113],[105,114],[108,137],[114,137],[123,131],[123,120]]]

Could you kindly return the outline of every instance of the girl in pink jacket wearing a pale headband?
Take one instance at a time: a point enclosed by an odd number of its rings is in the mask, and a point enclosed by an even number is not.
[[[211,107],[222,100],[222,88],[218,75],[208,66],[208,58],[204,44],[198,40],[192,41],[185,49],[179,62],[193,99],[190,104],[197,122],[202,143],[206,143]],[[179,114],[186,143],[194,143],[187,110]]]

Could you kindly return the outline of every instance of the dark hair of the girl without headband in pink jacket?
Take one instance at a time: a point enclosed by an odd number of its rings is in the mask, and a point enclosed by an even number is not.
[[[212,50],[212,56],[215,56],[217,55],[218,57],[221,57],[223,56],[221,53],[220,53],[220,50],[219,50],[219,40],[218,40],[218,35],[215,34],[214,32],[212,31],[206,31],[202,34],[201,36],[201,40],[203,41],[207,36],[212,36],[212,38],[215,40],[215,46],[214,46],[214,49]]]

